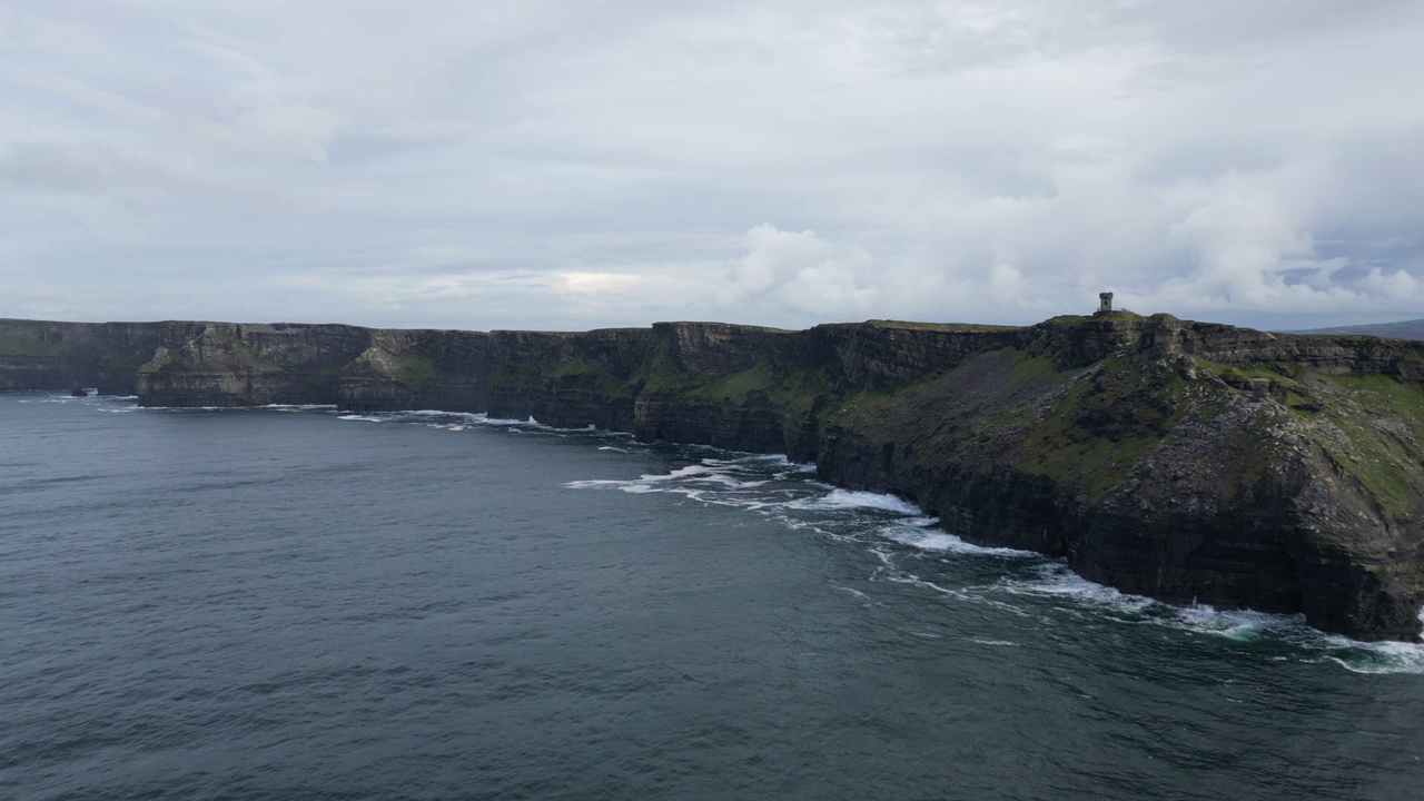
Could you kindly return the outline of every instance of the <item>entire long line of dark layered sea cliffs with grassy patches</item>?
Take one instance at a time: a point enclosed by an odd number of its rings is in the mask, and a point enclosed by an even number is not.
[[[0,389],[71,386],[780,452],[1125,591],[1420,636],[1424,342],[1131,314],[582,334],[0,321]]]

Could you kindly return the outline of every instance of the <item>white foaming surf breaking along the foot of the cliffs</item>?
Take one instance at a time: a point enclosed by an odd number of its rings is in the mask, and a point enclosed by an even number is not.
[[[41,400],[84,399],[53,396]],[[138,409],[131,402],[112,403],[125,399],[103,400],[104,406],[110,406],[108,410]],[[335,415],[335,408],[319,405],[273,405],[265,410]],[[1041,614],[1048,609],[1104,623],[1159,626],[1183,636],[1283,648],[1283,656],[1273,658],[1333,664],[1360,674],[1424,674],[1424,644],[1363,643],[1324,634],[1306,626],[1302,616],[1219,610],[1206,604],[1176,607],[1122,593],[1078,576],[1059,559],[965,542],[940,527],[937,519],[927,516],[914,503],[894,495],[849,490],[817,482],[815,466],[789,462],[785,456],[738,455],[706,446],[644,445],[632,442],[625,433],[560,429],[534,418],[521,420],[434,409],[335,416],[349,422],[409,423],[456,433],[503,429],[511,433],[578,436],[590,438],[594,448],[612,453],[659,452],[681,465],[661,473],[587,479],[565,486],[571,490],[679,495],[701,503],[762,515],[789,530],[860,547],[871,556],[867,562],[867,587],[874,587],[877,582],[914,586],[956,603],[987,604],[1022,617]],[[618,440],[618,445],[611,445],[609,440]],[[964,580],[965,574],[974,580]],[[880,603],[883,599],[867,600]],[[994,640],[984,644],[1001,647],[1018,643]]]

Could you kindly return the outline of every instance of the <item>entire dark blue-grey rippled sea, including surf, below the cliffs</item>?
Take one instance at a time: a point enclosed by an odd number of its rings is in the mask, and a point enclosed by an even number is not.
[[[597,432],[0,395],[0,797],[1420,797],[1420,647],[928,523]]]

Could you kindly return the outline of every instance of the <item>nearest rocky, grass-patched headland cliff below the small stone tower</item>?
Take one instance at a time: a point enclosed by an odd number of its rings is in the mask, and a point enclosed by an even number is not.
[[[1126,591],[1415,637],[1424,389],[1394,376],[1418,351],[1163,328],[1087,363],[1044,332],[843,408],[820,472]]]

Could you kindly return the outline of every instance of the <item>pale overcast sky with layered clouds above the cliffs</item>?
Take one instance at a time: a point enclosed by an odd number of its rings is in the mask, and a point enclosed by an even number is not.
[[[1424,316],[1418,0],[0,0],[0,316]]]

